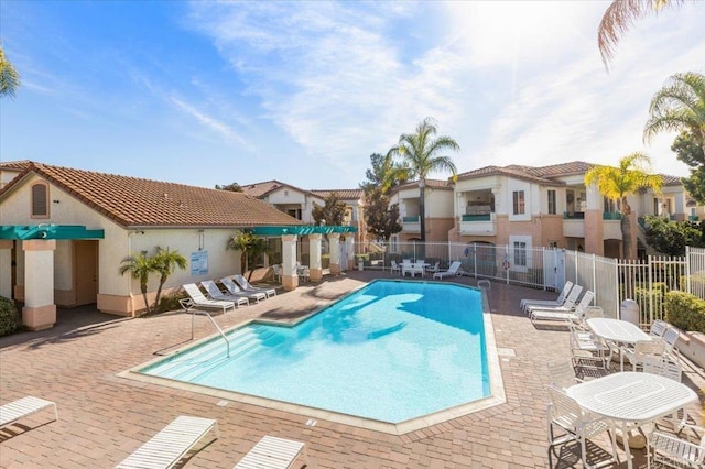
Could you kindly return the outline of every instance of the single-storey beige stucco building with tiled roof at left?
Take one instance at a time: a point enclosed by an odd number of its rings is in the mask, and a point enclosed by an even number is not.
[[[119,273],[133,253],[159,246],[186,258],[169,291],[238,273],[239,253],[226,249],[238,229],[302,225],[242,193],[26,161],[0,164],[0,296],[23,302],[33,329],[51,327],[56,306],[144,309],[139,282]]]

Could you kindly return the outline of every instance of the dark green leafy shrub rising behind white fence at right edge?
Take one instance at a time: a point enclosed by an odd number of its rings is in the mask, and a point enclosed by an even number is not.
[[[705,248],[705,222],[646,217],[647,242],[666,255],[685,255],[685,247]]]

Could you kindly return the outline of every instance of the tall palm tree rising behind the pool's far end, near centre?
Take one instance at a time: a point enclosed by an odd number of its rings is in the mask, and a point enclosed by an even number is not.
[[[429,173],[449,171],[453,177],[457,174],[455,163],[453,163],[451,156],[438,155],[438,153],[445,150],[457,152],[460,150],[460,145],[449,137],[440,135],[434,139],[436,133],[435,121],[426,118],[416,127],[416,133],[401,134],[399,144],[388,152],[388,155],[400,156],[402,163],[408,167],[410,177],[419,179],[421,242],[426,240],[425,197]]]

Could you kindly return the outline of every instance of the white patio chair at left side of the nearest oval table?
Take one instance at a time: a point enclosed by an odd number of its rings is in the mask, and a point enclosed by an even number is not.
[[[574,440],[581,445],[581,458],[584,467],[594,467],[587,463],[587,445],[586,440],[594,436],[609,432],[610,423],[597,415],[583,411],[579,405],[566,395],[562,390],[555,386],[549,386],[549,449],[555,445]],[[554,436],[553,428],[558,427],[565,435]],[[615,433],[610,432],[610,443],[612,445],[611,459],[600,462],[612,463],[617,461],[617,441]]]

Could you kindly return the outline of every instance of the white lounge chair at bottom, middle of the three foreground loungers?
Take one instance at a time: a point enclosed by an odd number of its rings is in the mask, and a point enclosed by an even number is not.
[[[218,438],[217,421],[181,415],[116,468],[171,468],[212,429]]]

